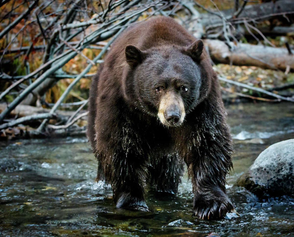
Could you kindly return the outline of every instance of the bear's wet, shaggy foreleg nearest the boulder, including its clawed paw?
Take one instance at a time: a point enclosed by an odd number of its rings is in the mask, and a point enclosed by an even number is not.
[[[225,176],[232,167],[231,138],[225,123],[202,124],[192,133],[185,158],[193,185],[193,215],[217,219],[234,211],[225,188]]]

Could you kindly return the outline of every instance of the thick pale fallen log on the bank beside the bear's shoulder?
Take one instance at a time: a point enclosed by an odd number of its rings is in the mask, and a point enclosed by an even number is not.
[[[233,43],[232,43],[233,44]],[[216,63],[258,66],[266,69],[294,70],[294,55],[286,48],[238,43],[230,51],[225,42],[206,39],[204,45]]]

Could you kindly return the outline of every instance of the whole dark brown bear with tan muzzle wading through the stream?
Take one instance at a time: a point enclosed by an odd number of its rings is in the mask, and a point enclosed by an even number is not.
[[[176,193],[185,162],[194,215],[215,219],[234,210],[218,79],[203,42],[170,17],[135,24],[113,43],[91,84],[88,138],[97,180],[111,184],[118,208],[148,211],[146,187]]]

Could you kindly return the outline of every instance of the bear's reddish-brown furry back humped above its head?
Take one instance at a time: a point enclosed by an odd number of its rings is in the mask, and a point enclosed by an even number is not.
[[[125,48],[130,44],[144,51],[168,45],[185,47],[193,41],[195,38],[174,19],[157,16],[126,29],[112,44],[105,63],[110,67],[122,65],[125,62]]]

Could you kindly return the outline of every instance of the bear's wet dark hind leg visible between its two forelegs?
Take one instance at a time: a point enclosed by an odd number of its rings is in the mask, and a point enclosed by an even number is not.
[[[176,154],[154,158],[148,169],[150,188],[165,193],[177,193],[183,168],[183,161]]]

